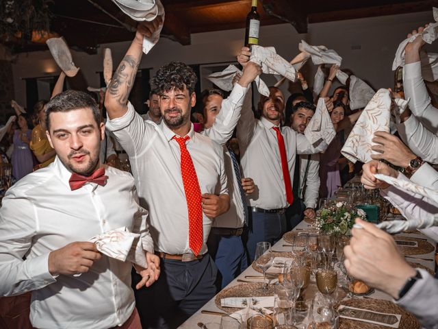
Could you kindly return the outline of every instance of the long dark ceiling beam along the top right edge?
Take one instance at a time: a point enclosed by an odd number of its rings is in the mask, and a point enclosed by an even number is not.
[[[363,19],[366,17],[407,14],[410,12],[424,12],[431,11],[432,7],[436,7],[437,5],[437,0],[426,0],[396,3],[392,5],[377,5],[368,8],[336,10],[333,12],[314,12],[309,13],[309,23],[344,21],[346,19]],[[432,19],[432,17],[430,19]]]

